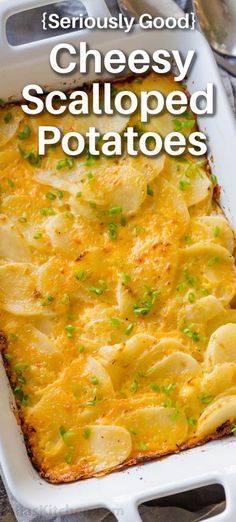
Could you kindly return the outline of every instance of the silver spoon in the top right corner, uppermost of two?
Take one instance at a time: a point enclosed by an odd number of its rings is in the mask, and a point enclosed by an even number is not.
[[[236,1],[193,0],[193,5],[201,30],[214,51],[217,63],[236,76],[236,65],[218,54],[236,58]]]

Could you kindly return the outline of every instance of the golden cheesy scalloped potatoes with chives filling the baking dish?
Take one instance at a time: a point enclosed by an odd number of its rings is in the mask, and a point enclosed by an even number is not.
[[[128,88],[175,84],[151,74]],[[236,418],[234,236],[205,159],[37,157],[38,125],[84,120],[0,116],[4,357],[33,462],[54,482],[194,445]],[[178,120],[186,135],[195,125]],[[175,126],[164,114],[142,128]]]

